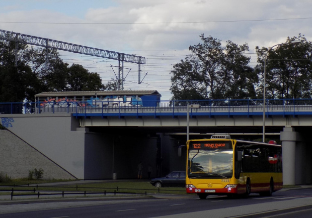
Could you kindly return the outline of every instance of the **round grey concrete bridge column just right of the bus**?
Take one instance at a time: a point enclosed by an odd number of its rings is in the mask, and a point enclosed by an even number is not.
[[[299,141],[298,133],[294,132],[292,127],[284,127],[281,132],[284,185],[295,185],[297,141]]]

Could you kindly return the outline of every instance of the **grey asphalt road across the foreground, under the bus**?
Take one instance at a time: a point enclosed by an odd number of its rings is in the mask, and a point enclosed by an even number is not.
[[[118,196],[0,202],[0,217],[311,217],[312,188],[282,189],[270,197],[197,195]]]

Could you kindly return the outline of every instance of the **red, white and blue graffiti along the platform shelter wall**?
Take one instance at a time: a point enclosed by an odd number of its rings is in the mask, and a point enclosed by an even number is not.
[[[91,97],[85,102],[65,99],[65,98],[49,98],[40,102],[40,107],[76,107],[76,106],[92,106],[92,107],[119,107],[119,106],[142,106],[142,99],[136,96],[106,96],[103,99]]]

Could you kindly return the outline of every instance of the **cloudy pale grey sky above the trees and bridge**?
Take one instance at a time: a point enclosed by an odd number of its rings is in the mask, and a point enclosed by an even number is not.
[[[124,90],[158,90],[172,97],[171,70],[200,35],[225,45],[247,43],[250,65],[255,47],[272,47],[287,37],[312,41],[312,0],[1,0],[0,30],[145,57],[124,63]],[[69,65],[97,72],[106,84],[118,61],[59,51]]]

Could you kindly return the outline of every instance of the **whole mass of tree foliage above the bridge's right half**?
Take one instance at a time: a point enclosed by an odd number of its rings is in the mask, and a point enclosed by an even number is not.
[[[312,97],[312,43],[299,34],[282,45],[256,47],[258,64],[249,66],[248,45],[237,45],[211,36],[200,36],[201,43],[190,46],[192,52],[173,66],[173,100],[263,98],[264,60],[266,98]],[[301,43],[291,44],[293,40]]]

